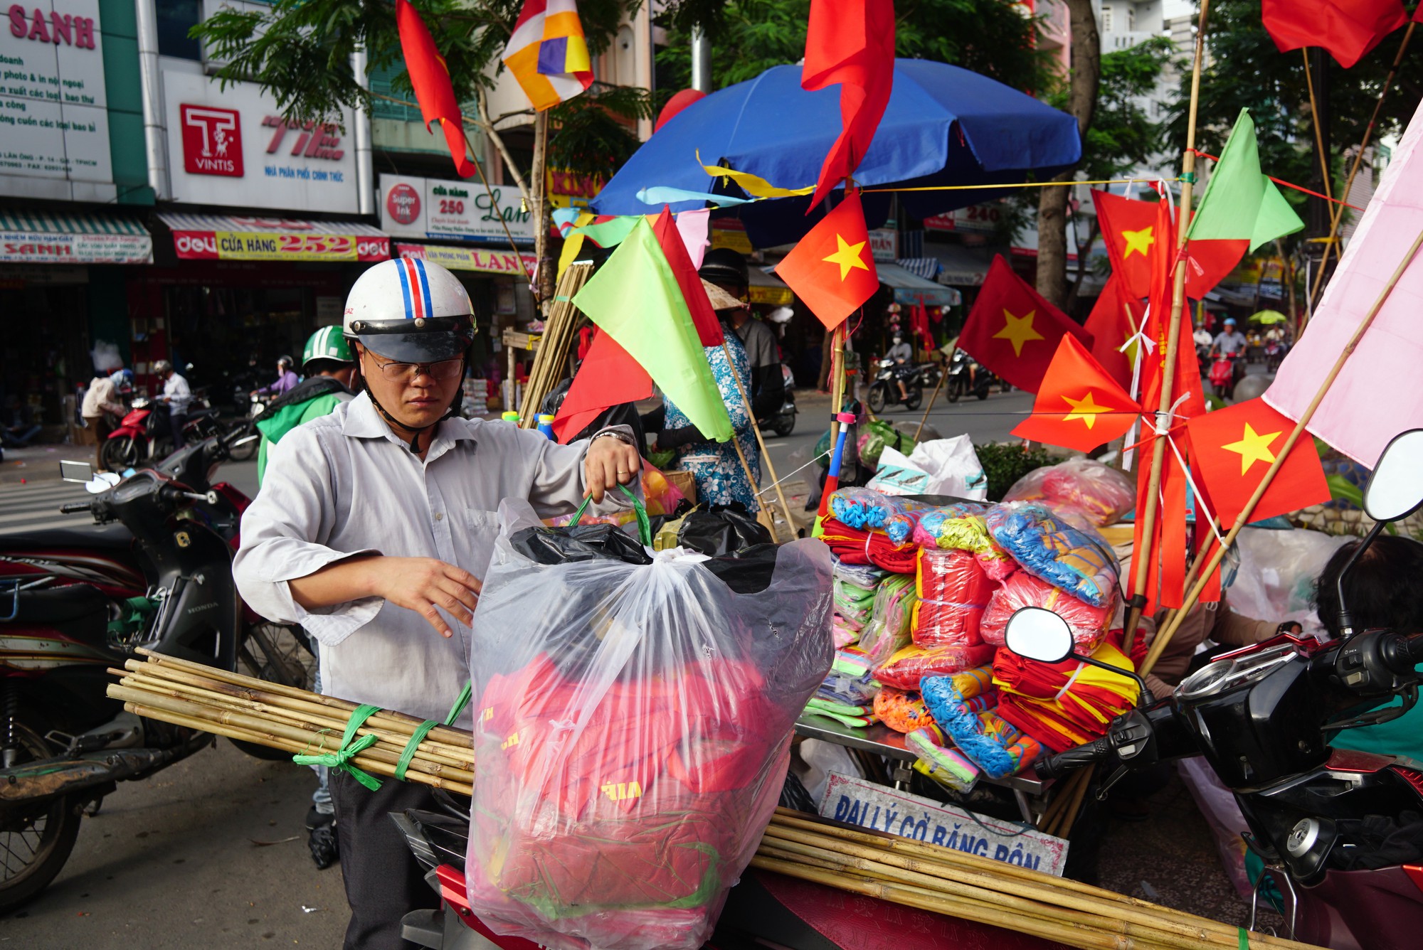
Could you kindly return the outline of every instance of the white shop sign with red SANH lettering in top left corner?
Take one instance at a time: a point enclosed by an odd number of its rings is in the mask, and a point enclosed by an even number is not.
[[[112,182],[98,0],[13,3],[6,13],[0,176]]]

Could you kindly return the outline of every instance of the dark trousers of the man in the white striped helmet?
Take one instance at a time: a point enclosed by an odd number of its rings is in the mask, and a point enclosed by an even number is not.
[[[410,950],[400,939],[400,919],[411,910],[438,907],[440,895],[424,880],[390,812],[437,808],[424,785],[381,779],[370,791],[340,769],[332,769],[336,839],[351,920],[344,950]]]

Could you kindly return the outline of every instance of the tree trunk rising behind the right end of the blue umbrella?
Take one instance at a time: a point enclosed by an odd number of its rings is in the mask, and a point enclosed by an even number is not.
[[[1072,21],[1072,71],[1067,111],[1077,119],[1086,139],[1091,114],[1097,108],[1101,80],[1101,37],[1093,0],[1066,0]],[[1053,181],[1072,181],[1063,172]],[[1067,199],[1070,186],[1044,188],[1037,199],[1037,293],[1063,307],[1067,303]]]

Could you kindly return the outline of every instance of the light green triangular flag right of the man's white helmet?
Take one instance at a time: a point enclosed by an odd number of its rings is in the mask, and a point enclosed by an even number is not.
[[[638,216],[573,304],[647,371],[703,435],[717,442],[731,438],[731,418],[687,301],[646,218]]]

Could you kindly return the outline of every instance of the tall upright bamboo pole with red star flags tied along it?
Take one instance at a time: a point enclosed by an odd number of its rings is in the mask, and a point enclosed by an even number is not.
[[[1157,495],[1161,488],[1161,465],[1165,462],[1165,439],[1170,435],[1171,390],[1175,385],[1177,348],[1181,341],[1181,311],[1185,307],[1185,232],[1191,223],[1191,185],[1195,182],[1195,112],[1201,101],[1201,60],[1205,57],[1205,16],[1211,0],[1201,0],[1201,18],[1195,31],[1195,63],[1191,67],[1191,111],[1185,125],[1185,154],[1181,156],[1181,228],[1177,235],[1175,276],[1171,289],[1171,320],[1167,326],[1165,364],[1161,370],[1161,401],[1157,404],[1157,425],[1163,422],[1168,427],[1167,434],[1158,434],[1151,439],[1151,475],[1147,481],[1147,496],[1137,499],[1137,512],[1141,519],[1141,538],[1147,546],[1146,552],[1134,552],[1131,567],[1134,572],[1131,583],[1131,610],[1127,614],[1127,626],[1123,637],[1123,653],[1131,656],[1131,644],[1137,634],[1137,621],[1141,620],[1141,610],[1147,603],[1147,572],[1151,566],[1151,538],[1155,533]],[[1143,556],[1146,555],[1146,556]]]

